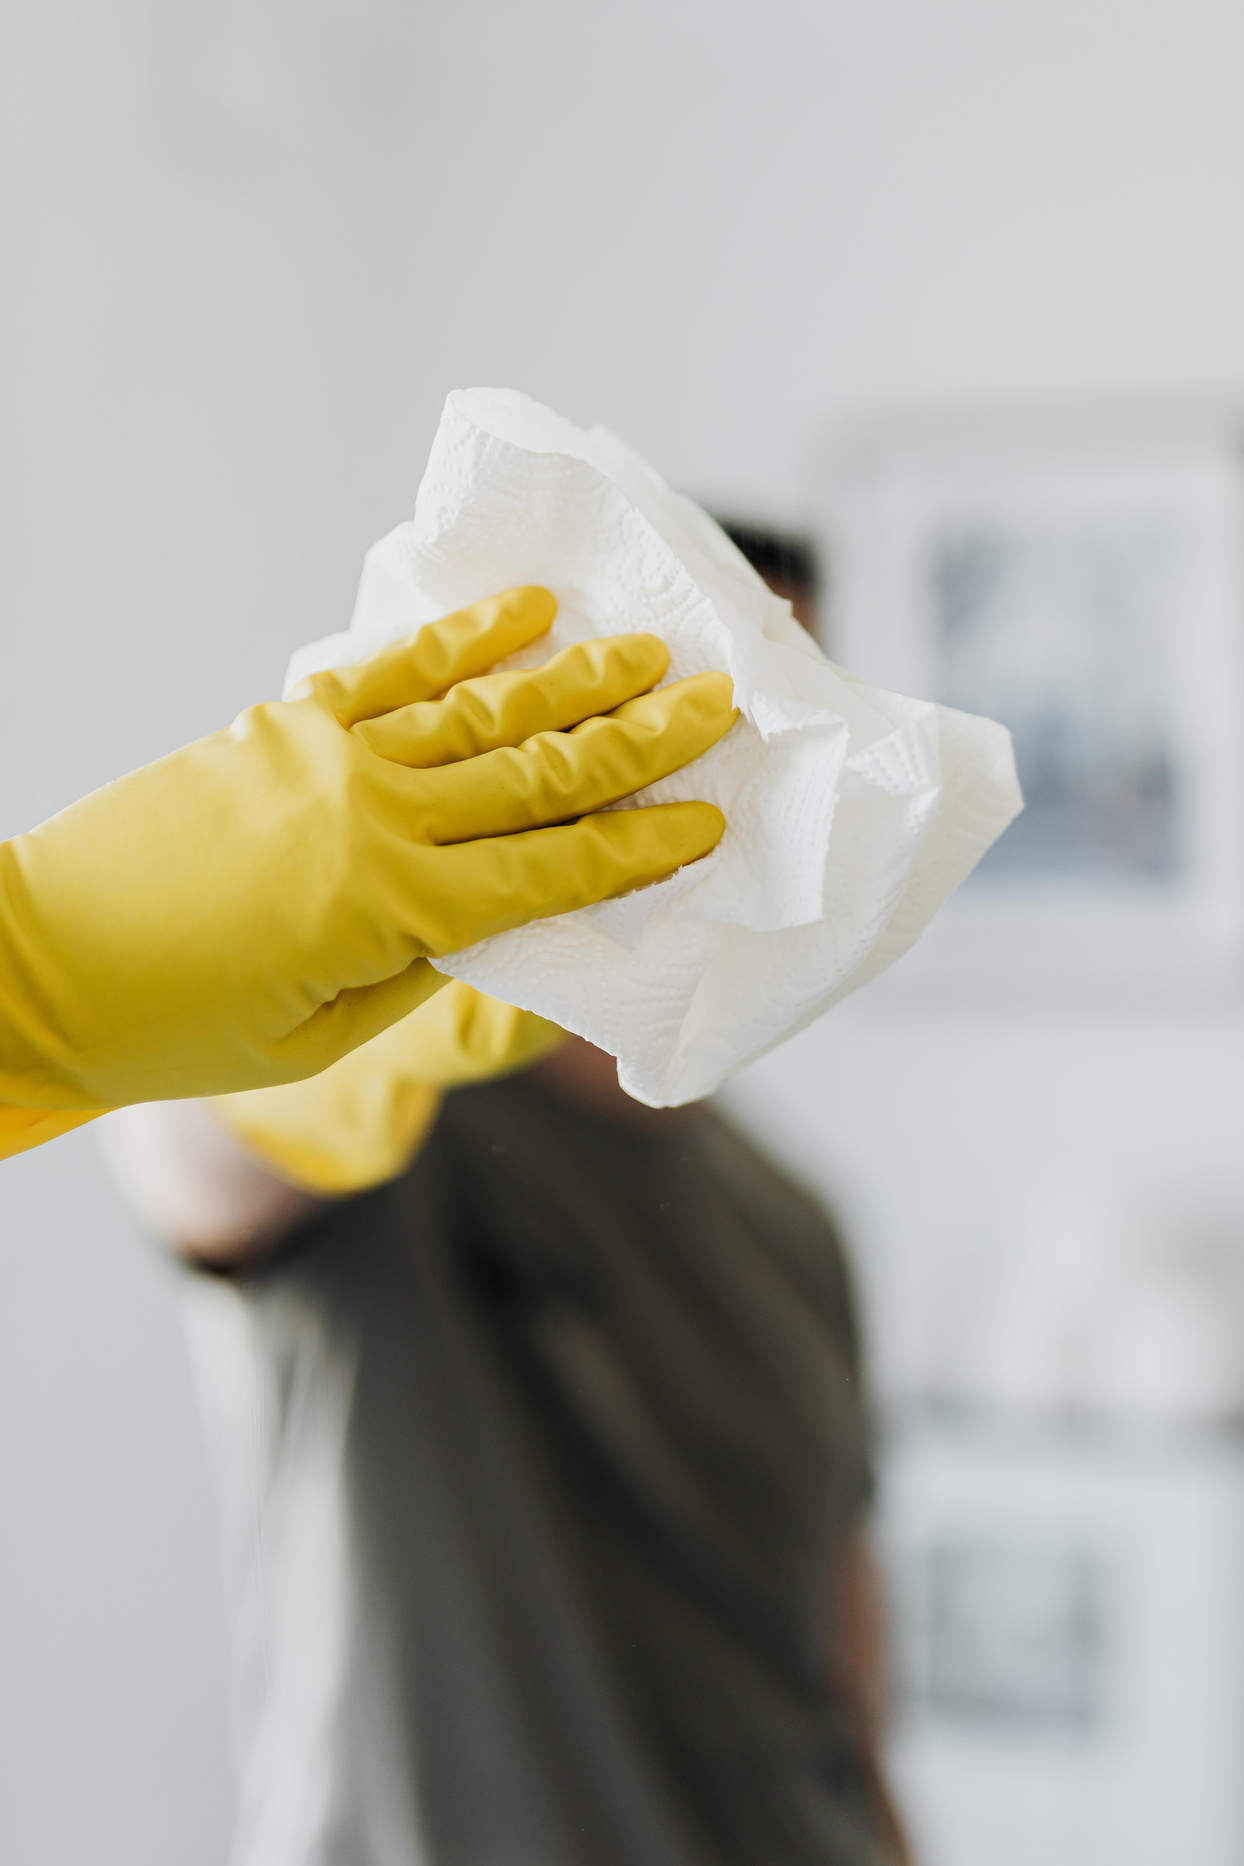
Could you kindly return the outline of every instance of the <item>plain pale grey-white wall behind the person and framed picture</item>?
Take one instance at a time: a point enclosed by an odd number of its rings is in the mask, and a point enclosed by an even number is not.
[[[1242,77],[1225,0],[4,9],[0,832],[339,627],[451,386],[774,513],[849,403],[1244,388]],[[845,1011],[739,1095],[845,1189],[901,1379],[934,1252],[1043,1176],[1237,1211],[1238,1056]],[[0,1232],[0,1857],[218,1860],[166,1284],[88,1136],[2,1170]]]

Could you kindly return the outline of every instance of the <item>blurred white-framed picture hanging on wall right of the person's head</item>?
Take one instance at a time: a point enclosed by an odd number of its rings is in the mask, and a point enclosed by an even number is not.
[[[821,476],[830,653],[1011,728],[1026,810],[929,963],[1244,978],[1244,416],[858,420]]]

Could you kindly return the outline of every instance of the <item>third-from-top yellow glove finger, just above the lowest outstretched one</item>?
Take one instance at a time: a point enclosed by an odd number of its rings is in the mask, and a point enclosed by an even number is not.
[[[629,700],[574,731],[420,773],[420,838],[433,843],[509,836],[587,815],[688,765],[737,715],[727,674],[696,674]]]

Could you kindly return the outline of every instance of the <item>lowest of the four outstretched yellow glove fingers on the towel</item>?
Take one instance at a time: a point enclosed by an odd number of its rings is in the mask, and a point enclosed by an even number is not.
[[[412,892],[420,939],[433,955],[492,933],[630,894],[716,849],[726,817],[714,804],[610,810],[558,829],[418,849]],[[423,884],[436,875],[436,905]]]

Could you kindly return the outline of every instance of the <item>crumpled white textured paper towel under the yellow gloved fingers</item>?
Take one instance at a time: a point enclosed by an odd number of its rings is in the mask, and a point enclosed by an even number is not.
[[[718,804],[711,856],[436,961],[610,1051],[638,1101],[707,1095],[877,978],[1022,808],[1005,728],[843,674],[699,506],[513,390],[449,396],[414,519],[367,552],[349,633],[302,648],[285,690],[515,584],[560,606],[511,666],[649,629],[666,679],[724,668],[742,713],[636,799]]]

